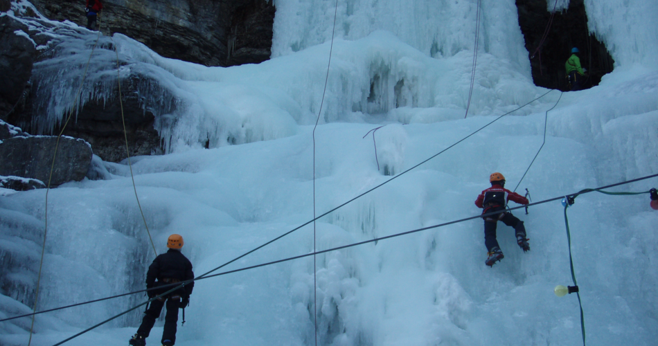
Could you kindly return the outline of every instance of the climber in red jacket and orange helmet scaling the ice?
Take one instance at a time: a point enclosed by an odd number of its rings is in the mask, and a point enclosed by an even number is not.
[[[526,239],[526,228],[523,226],[523,221],[512,215],[511,212],[506,212],[506,205],[508,201],[515,201],[519,204],[528,204],[528,199],[516,192],[511,192],[504,188],[505,177],[498,172],[489,176],[491,187],[482,191],[482,193],[475,200],[475,205],[478,208],[484,208],[482,214],[490,212],[499,212],[498,214],[488,215],[484,219],[484,244],[487,246],[489,257],[484,262],[488,266],[493,266],[494,263],[502,260],[504,255],[500,251],[500,246],[496,240],[496,228],[498,220],[503,221],[507,226],[512,226],[516,232],[517,244],[524,252],[530,250],[528,239]]]

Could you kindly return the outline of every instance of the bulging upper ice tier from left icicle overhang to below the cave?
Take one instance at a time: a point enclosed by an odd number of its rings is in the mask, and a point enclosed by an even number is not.
[[[496,33],[482,37],[506,40]],[[86,102],[118,102],[116,49],[124,97],[136,97],[141,111],[154,115],[165,152],[281,138],[295,134],[297,125],[313,123],[330,50],[326,42],[263,64],[224,69],[159,57],[120,34],[98,39],[64,26],[55,38],[47,52],[51,59],[35,64],[35,132],[51,133],[71,110],[75,121]],[[511,107],[540,92],[513,62],[497,58],[497,50],[504,45],[479,55],[471,114]],[[422,120],[391,113],[390,120],[432,122],[466,107],[469,51],[435,59],[380,30],[355,41],[337,40],[332,55],[322,122],[366,121],[404,107],[434,111]]]

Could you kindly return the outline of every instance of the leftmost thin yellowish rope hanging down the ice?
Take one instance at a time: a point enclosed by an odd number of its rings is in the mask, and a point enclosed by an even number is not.
[[[42,273],[42,268],[44,266],[44,255],[46,253],[46,235],[48,235],[48,192],[51,190],[51,181],[53,179],[53,170],[55,170],[55,158],[57,157],[57,149],[60,146],[60,138],[62,138],[62,134],[64,134],[64,129],[66,129],[66,125],[69,125],[69,120],[71,120],[71,116],[73,116],[73,109],[75,109],[75,104],[78,104],[78,100],[80,100],[80,95],[82,95],[82,86],[85,84],[85,79],[87,78],[87,71],[89,71],[89,63],[91,62],[91,56],[94,55],[94,49],[96,49],[96,46],[98,45],[98,40],[100,39],[101,24],[102,22],[99,13],[98,36],[96,37],[96,42],[94,42],[94,46],[91,47],[91,53],[89,53],[89,60],[87,60],[87,66],[85,66],[85,73],[82,74],[82,80],[80,81],[80,88],[78,88],[78,93],[76,93],[75,98],[73,98],[73,104],[71,104],[71,109],[69,109],[69,116],[66,117],[66,122],[64,122],[64,127],[62,127],[60,134],[57,135],[57,142],[55,143],[55,152],[53,153],[53,163],[51,164],[51,172],[48,175],[48,185],[46,185],[46,207],[44,210],[44,244],[41,249],[41,260],[39,261],[39,274],[37,275],[37,286],[35,288],[33,312],[37,311],[37,301],[39,300],[39,285],[41,284],[41,273]],[[30,340],[28,340],[28,346],[30,346],[32,343],[32,334],[34,332],[34,319],[35,319],[35,315],[32,316],[32,323],[30,325]]]

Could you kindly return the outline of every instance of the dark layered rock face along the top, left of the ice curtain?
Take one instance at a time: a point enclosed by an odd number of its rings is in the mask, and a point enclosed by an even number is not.
[[[46,17],[87,25],[85,2],[33,0]],[[159,55],[206,66],[269,59],[274,6],[265,0],[103,1],[100,30],[122,33]]]

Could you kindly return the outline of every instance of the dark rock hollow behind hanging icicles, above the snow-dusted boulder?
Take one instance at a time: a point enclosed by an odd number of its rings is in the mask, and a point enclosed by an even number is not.
[[[105,38],[104,38],[105,39]],[[99,43],[96,54],[103,55],[103,51],[112,49],[112,46],[103,48],[103,42]],[[53,49],[56,51],[56,48]],[[86,54],[87,52],[85,52]],[[114,59],[114,52],[109,51],[109,57]],[[122,62],[123,66],[129,64]],[[130,65],[130,64],[129,64]],[[152,79],[143,71],[130,70],[130,74],[121,77],[122,98],[119,102],[119,89],[116,73],[104,74],[105,78],[85,80],[85,93],[95,93],[96,98],[91,98],[82,104],[79,111],[73,114],[65,113],[64,120],[60,125],[48,128],[45,114],[48,104],[53,100],[59,100],[60,95],[54,93],[57,87],[61,87],[57,78],[53,79],[53,73],[57,71],[71,71],[71,75],[77,75],[75,69],[83,69],[85,66],[71,66],[66,60],[60,62],[46,62],[35,64],[33,74],[33,94],[30,96],[31,104],[29,111],[21,118],[15,118],[15,123],[33,134],[59,134],[65,118],[71,116],[66,122],[63,134],[86,140],[94,148],[94,154],[103,158],[104,161],[121,162],[127,158],[126,140],[130,156],[162,154],[161,138],[158,128],[167,125],[167,118],[156,122],[154,114],[170,114],[176,111],[175,98],[165,86],[161,86],[157,80]],[[98,66],[97,66],[98,67]],[[114,69],[112,60],[102,64],[98,71]],[[103,73],[101,73],[103,74]],[[71,85],[77,89],[78,80],[73,80]],[[39,101],[40,100],[40,101]],[[123,107],[122,107],[123,106]],[[125,121],[125,134],[124,134]],[[174,120],[172,120],[174,121]],[[126,138],[127,137],[127,138]]]

